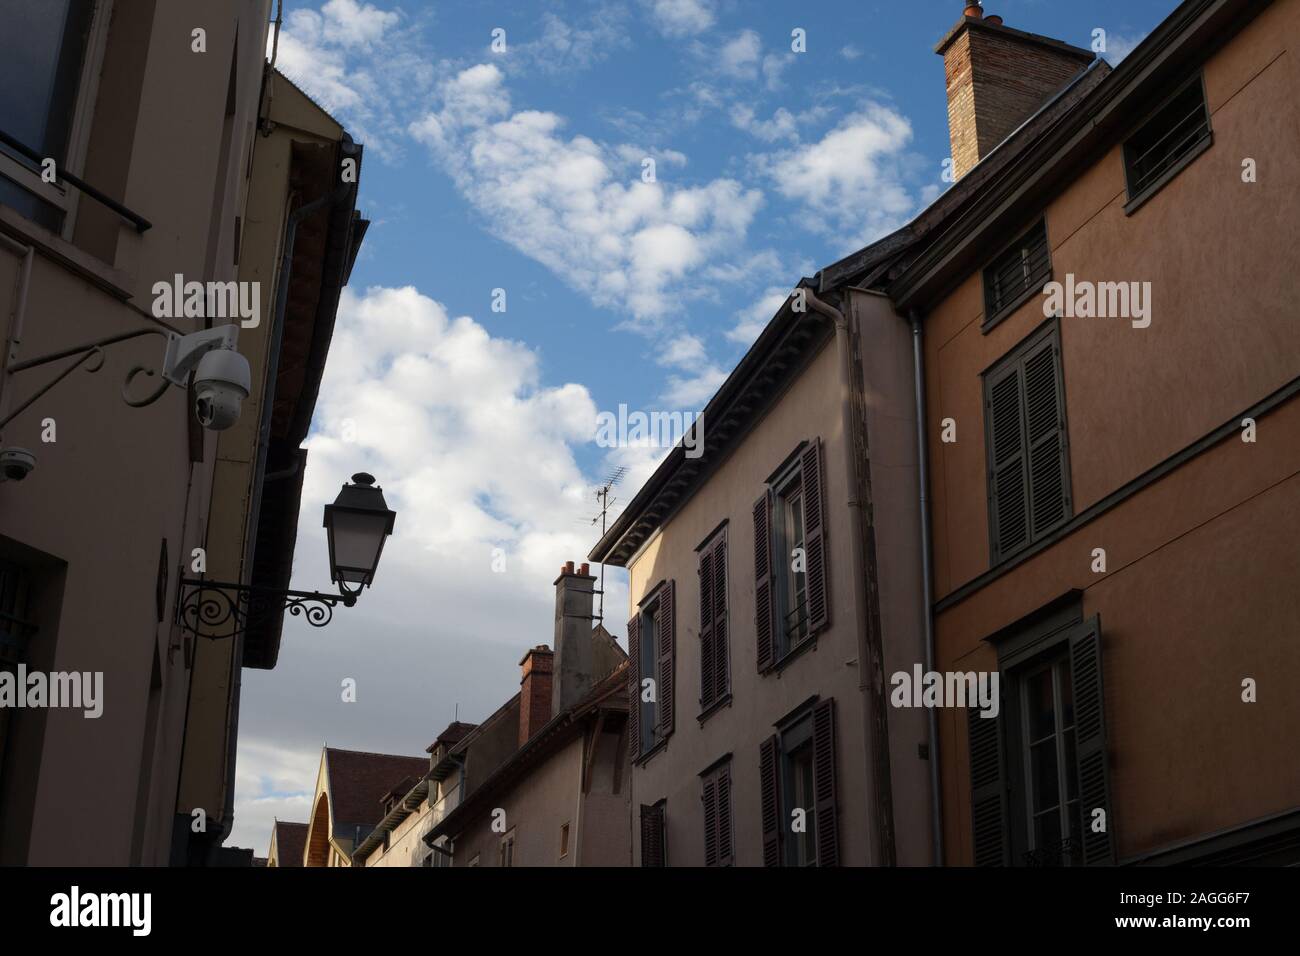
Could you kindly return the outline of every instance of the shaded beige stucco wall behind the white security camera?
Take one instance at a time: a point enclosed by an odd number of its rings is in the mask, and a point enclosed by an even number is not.
[[[233,248],[243,196],[224,189],[229,170],[220,157],[238,164],[260,74],[239,70],[239,139],[226,153],[221,120],[237,31],[240,56],[260,56],[268,10],[269,0],[157,4],[146,25],[147,40],[131,42],[136,52],[147,48],[138,113],[134,101],[101,98],[95,120],[96,127],[131,130],[125,151],[122,143],[113,144],[116,157],[129,156],[120,198],[153,228],[136,234],[114,222],[113,261],[96,261],[12,209],[0,209],[6,234],[43,247],[32,267],[22,358],[157,324],[150,313],[151,286],[177,272],[187,278],[235,277],[231,256],[222,250]],[[208,31],[205,55],[190,51],[190,31],[200,23]],[[109,52],[124,56],[122,42],[121,33],[110,31]],[[108,122],[114,113],[118,122]],[[87,166],[103,156],[104,143],[92,137],[90,150]],[[14,259],[0,255],[0,299],[12,300],[16,278]],[[8,326],[8,310],[3,321]],[[195,328],[192,319],[169,324],[179,332]],[[156,571],[165,538],[162,620],[169,622],[181,558],[200,542],[205,524],[214,437],[204,436],[205,462],[191,467],[192,412],[182,390],[170,389],[147,408],[122,403],[118,389],[126,369],[157,368],[161,356],[157,337],[112,346],[99,373],[78,371],[4,433],[5,445],[32,449],[39,460],[26,481],[0,485],[0,536],[66,566],[43,579],[48,591],[61,578],[61,607],[39,622],[29,663],[105,674],[98,721],[51,710],[22,714],[17,722],[0,784],[4,862],[168,858],[187,675],[178,636],[157,619]],[[21,399],[55,371],[25,372],[4,388]],[[57,423],[52,444],[40,440],[47,418]]]

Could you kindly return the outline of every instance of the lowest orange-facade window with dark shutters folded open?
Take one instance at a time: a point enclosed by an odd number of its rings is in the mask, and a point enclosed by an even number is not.
[[[1101,626],[1074,618],[1000,646],[997,717],[967,709],[976,866],[1114,862]]]

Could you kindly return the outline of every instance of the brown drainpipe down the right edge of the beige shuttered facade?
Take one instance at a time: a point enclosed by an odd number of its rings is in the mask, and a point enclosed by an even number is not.
[[[858,689],[862,692],[862,745],[866,750],[867,767],[867,819],[876,827],[876,839],[868,852],[867,864],[879,866],[885,857],[884,835],[881,832],[881,812],[879,803],[879,778],[874,753],[875,685],[871,679],[871,653],[867,646],[867,574],[862,541],[862,501],[858,498],[858,462],[853,453],[853,350],[849,342],[849,320],[835,306],[819,299],[811,289],[803,287],[805,300],[814,311],[820,312],[835,324],[835,352],[840,364],[840,420],[845,438],[845,476],[849,485],[849,550],[853,567],[853,611],[858,637]],[[884,743],[888,747],[888,741]]]

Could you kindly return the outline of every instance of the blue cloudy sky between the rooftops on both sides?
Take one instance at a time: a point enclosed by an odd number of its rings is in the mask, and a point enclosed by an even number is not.
[[[1105,30],[1117,60],[1175,5],[985,9],[1083,47]],[[277,66],[365,144],[373,220],[294,587],[326,585],[321,507],[352,472],[398,519],[361,602],[321,631],[286,620],[276,670],[244,672],[229,844],[264,853],[274,818],[307,819],[322,743],[421,754],[517,691],[560,564],[597,537],[601,477],[627,467],[625,502],[666,451],[603,447],[598,415],[698,411],[800,277],[945,187],[933,47],[962,7],[285,1]],[[621,639],[624,579],[607,589]]]

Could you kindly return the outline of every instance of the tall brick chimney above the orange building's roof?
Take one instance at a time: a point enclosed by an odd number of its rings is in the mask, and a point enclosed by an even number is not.
[[[948,81],[948,138],[961,178],[1093,60],[1092,51],[985,17],[979,3],[939,42]]]

